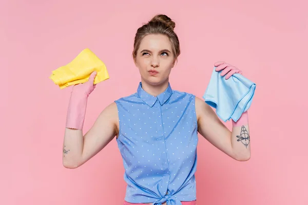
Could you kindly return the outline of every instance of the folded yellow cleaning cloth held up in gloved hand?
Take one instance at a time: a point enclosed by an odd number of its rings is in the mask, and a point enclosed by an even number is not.
[[[85,83],[93,71],[97,71],[94,84],[109,78],[103,61],[90,49],[84,49],[69,64],[52,71],[49,78],[59,85],[60,89],[63,89],[71,85]]]

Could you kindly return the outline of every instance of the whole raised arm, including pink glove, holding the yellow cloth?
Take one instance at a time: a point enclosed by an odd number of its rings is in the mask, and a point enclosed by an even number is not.
[[[63,142],[63,166],[69,169],[80,167],[102,150],[118,133],[119,117],[115,103],[107,106],[83,136],[83,124],[89,94],[94,90],[93,72],[86,83],[73,87],[66,117]]]

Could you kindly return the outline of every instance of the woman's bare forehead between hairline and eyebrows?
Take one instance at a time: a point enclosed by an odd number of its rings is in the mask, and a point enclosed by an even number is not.
[[[146,35],[140,44],[139,50],[147,49],[150,51],[159,51],[168,49],[171,51],[171,42],[166,35],[150,34]]]

